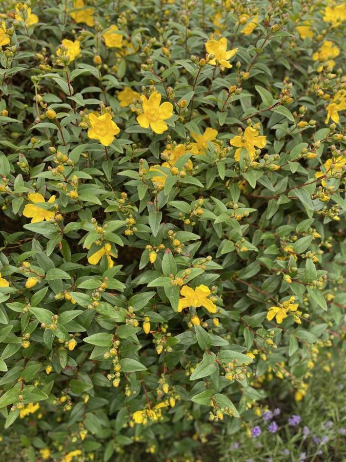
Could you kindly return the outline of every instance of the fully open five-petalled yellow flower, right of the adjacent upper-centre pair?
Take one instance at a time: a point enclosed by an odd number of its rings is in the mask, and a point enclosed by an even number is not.
[[[154,133],[163,133],[168,129],[166,119],[169,119],[173,115],[173,105],[169,102],[162,103],[161,95],[157,91],[154,91],[149,100],[142,94],[140,98],[143,100],[143,114],[139,114],[137,122],[143,128],[150,128]]]

